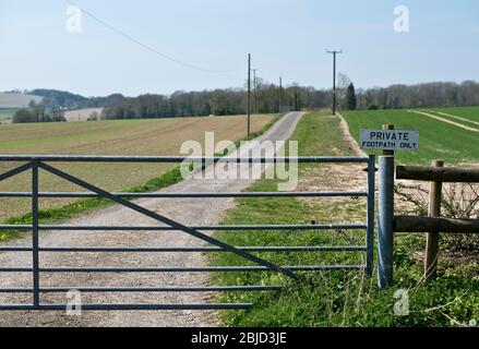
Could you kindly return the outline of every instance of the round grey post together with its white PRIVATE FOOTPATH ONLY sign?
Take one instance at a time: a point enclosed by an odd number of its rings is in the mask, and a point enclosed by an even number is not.
[[[386,289],[393,284],[394,153],[419,151],[419,132],[395,130],[394,125],[361,130],[361,148],[383,152],[379,159],[378,286]]]

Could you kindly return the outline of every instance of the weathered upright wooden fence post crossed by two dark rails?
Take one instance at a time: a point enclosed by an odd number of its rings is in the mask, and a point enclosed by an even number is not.
[[[434,160],[432,167],[444,167],[444,161]],[[429,197],[429,216],[441,217],[441,201],[442,201],[442,182],[431,182],[430,197]],[[439,238],[440,231],[428,232],[428,241],[426,248],[426,266],[424,279],[432,280],[438,275],[438,256],[439,256]]]

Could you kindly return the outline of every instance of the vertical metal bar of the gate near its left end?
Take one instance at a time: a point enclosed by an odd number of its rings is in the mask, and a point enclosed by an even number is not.
[[[32,160],[32,265],[34,308],[40,305],[39,293],[39,253],[38,253],[38,159]]]

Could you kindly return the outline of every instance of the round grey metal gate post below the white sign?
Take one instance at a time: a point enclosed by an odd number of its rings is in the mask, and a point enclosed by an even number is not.
[[[380,156],[379,167],[378,282],[385,289],[393,284],[394,156]]]

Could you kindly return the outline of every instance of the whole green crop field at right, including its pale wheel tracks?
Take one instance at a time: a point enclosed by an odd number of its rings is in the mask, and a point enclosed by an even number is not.
[[[421,110],[345,111],[351,135],[359,142],[361,129],[396,129],[420,131],[420,151],[400,152],[400,164],[429,165],[443,159],[446,165],[479,163],[479,107]]]

